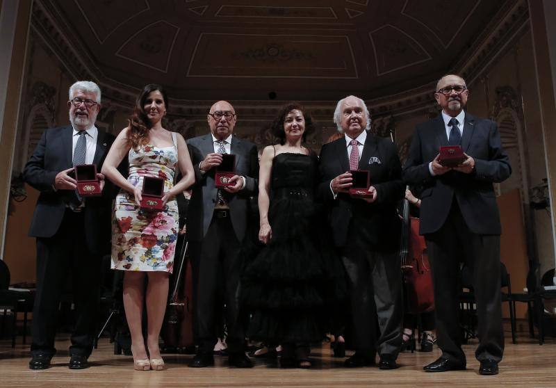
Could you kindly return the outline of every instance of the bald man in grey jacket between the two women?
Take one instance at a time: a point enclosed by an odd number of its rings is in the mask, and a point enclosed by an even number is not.
[[[188,210],[188,238],[193,258],[195,337],[199,349],[190,366],[214,364],[215,327],[226,304],[227,345],[230,366],[248,368],[245,328],[239,312],[238,284],[241,242],[249,219],[250,195],[256,193],[259,163],[254,143],[232,136],[236,112],[229,102],[216,102],[207,115],[211,133],[188,140],[195,168],[195,185]],[[222,154],[234,154],[234,177],[227,188],[215,187],[215,168]],[[219,283],[218,280],[222,280]]]

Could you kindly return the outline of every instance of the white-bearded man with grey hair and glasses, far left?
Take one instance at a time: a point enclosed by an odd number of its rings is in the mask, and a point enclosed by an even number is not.
[[[76,194],[73,166],[100,171],[114,137],[95,127],[101,92],[96,83],[70,88],[71,125],[47,129],[24,169],[25,181],[40,191],[29,236],[37,238],[37,291],[33,307],[30,369],[46,369],[56,353],[54,337],[60,294],[68,273],[73,280],[76,323],[70,369],[84,369],[95,337],[101,254],[110,245],[110,195]],[[101,188],[104,176],[97,174]]]

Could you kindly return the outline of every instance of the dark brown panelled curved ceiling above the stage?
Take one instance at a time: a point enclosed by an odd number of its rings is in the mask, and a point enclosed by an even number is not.
[[[506,0],[41,1],[100,81],[177,99],[393,95],[451,70]]]

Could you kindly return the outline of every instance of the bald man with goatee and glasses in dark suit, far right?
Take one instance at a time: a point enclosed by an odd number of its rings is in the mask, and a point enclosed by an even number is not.
[[[436,333],[442,356],[428,372],[466,368],[457,319],[459,263],[473,270],[477,302],[480,373],[498,373],[504,350],[500,307],[500,216],[493,182],[512,173],[496,123],[466,111],[468,89],[457,75],[443,76],[434,94],[442,113],[418,124],[404,166],[408,184],[423,184],[420,234],[432,262]],[[461,145],[465,161],[448,168],[439,147]]]

